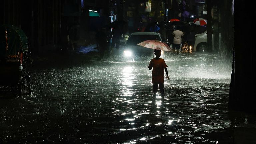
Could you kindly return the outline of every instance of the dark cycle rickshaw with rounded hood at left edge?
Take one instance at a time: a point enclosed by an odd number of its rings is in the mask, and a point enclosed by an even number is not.
[[[15,93],[19,97],[31,95],[30,76],[26,73],[29,55],[25,33],[13,25],[1,25],[0,91]]]

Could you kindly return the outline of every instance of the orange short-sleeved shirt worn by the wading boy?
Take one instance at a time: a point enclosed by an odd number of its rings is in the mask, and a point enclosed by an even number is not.
[[[152,70],[152,82],[151,83],[164,83],[164,68],[168,67],[164,59],[151,59],[148,68]]]

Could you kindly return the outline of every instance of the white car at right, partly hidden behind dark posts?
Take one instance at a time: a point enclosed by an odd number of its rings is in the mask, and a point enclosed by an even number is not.
[[[201,34],[195,35],[195,44],[194,44],[194,50],[193,51],[199,51],[199,52],[207,52],[209,51],[207,46],[207,31]]]

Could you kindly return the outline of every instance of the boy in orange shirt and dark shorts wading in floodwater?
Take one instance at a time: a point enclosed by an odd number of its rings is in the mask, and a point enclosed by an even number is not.
[[[166,79],[170,80],[167,71],[167,65],[165,64],[164,59],[160,58],[161,50],[154,50],[156,58],[151,59],[149,63],[149,70],[152,70],[152,84],[153,84],[153,93],[156,94],[159,85],[159,91],[161,95],[164,95],[164,70],[166,73]]]

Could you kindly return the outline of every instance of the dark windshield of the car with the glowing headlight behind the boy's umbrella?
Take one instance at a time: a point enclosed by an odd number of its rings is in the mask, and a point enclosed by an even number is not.
[[[158,35],[132,35],[128,38],[126,45],[137,45],[145,40],[159,40],[161,41]]]

